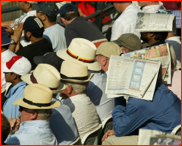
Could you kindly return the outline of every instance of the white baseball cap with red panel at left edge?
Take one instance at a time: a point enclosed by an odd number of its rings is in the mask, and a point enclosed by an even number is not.
[[[13,56],[8,62],[2,63],[2,72],[14,72],[18,75],[28,74],[31,70],[30,61],[23,56]]]

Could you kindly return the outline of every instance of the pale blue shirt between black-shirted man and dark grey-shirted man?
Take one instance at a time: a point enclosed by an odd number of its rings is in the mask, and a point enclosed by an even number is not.
[[[44,30],[43,38],[51,42],[54,52],[67,48],[64,32],[65,29],[59,24],[55,24]]]

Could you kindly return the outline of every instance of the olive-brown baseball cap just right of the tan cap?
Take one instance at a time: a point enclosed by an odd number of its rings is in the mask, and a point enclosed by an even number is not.
[[[141,40],[133,33],[125,33],[117,40],[112,42],[118,44],[119,46],[124,46],[125,48],[132,51],[140,50],[142,47]]]

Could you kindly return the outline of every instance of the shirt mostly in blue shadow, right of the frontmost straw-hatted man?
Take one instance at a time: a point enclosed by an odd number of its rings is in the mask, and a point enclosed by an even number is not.
[[[56,99],[53,98],[52,101],[56,101]],[[49,122],[59,145],[69,145],[78,137],[77,127],[68,106],[62,104],[60,107],[54,108]]]

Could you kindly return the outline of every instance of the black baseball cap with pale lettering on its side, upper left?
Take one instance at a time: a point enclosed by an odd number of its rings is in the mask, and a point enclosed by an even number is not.
[[[39,18],[30,16],[25,20],[23,24],[23,30],[30,32],[40,32],[44,30],[44,24]]]

